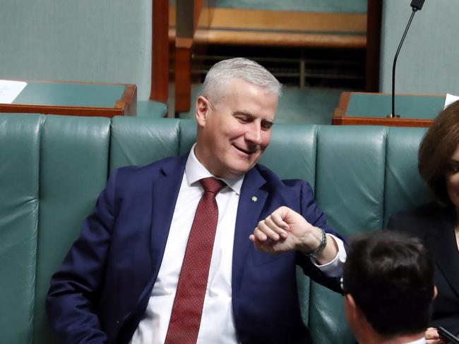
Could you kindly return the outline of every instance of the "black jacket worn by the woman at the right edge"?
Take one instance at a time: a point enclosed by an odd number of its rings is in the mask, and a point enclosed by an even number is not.
[[[459,254],[456,245],[455,211],[431,202],[391,217],[388,228],[416,235],[431,252],[435,262],[438,295],[430,326],[443,326],[459,333]]]

